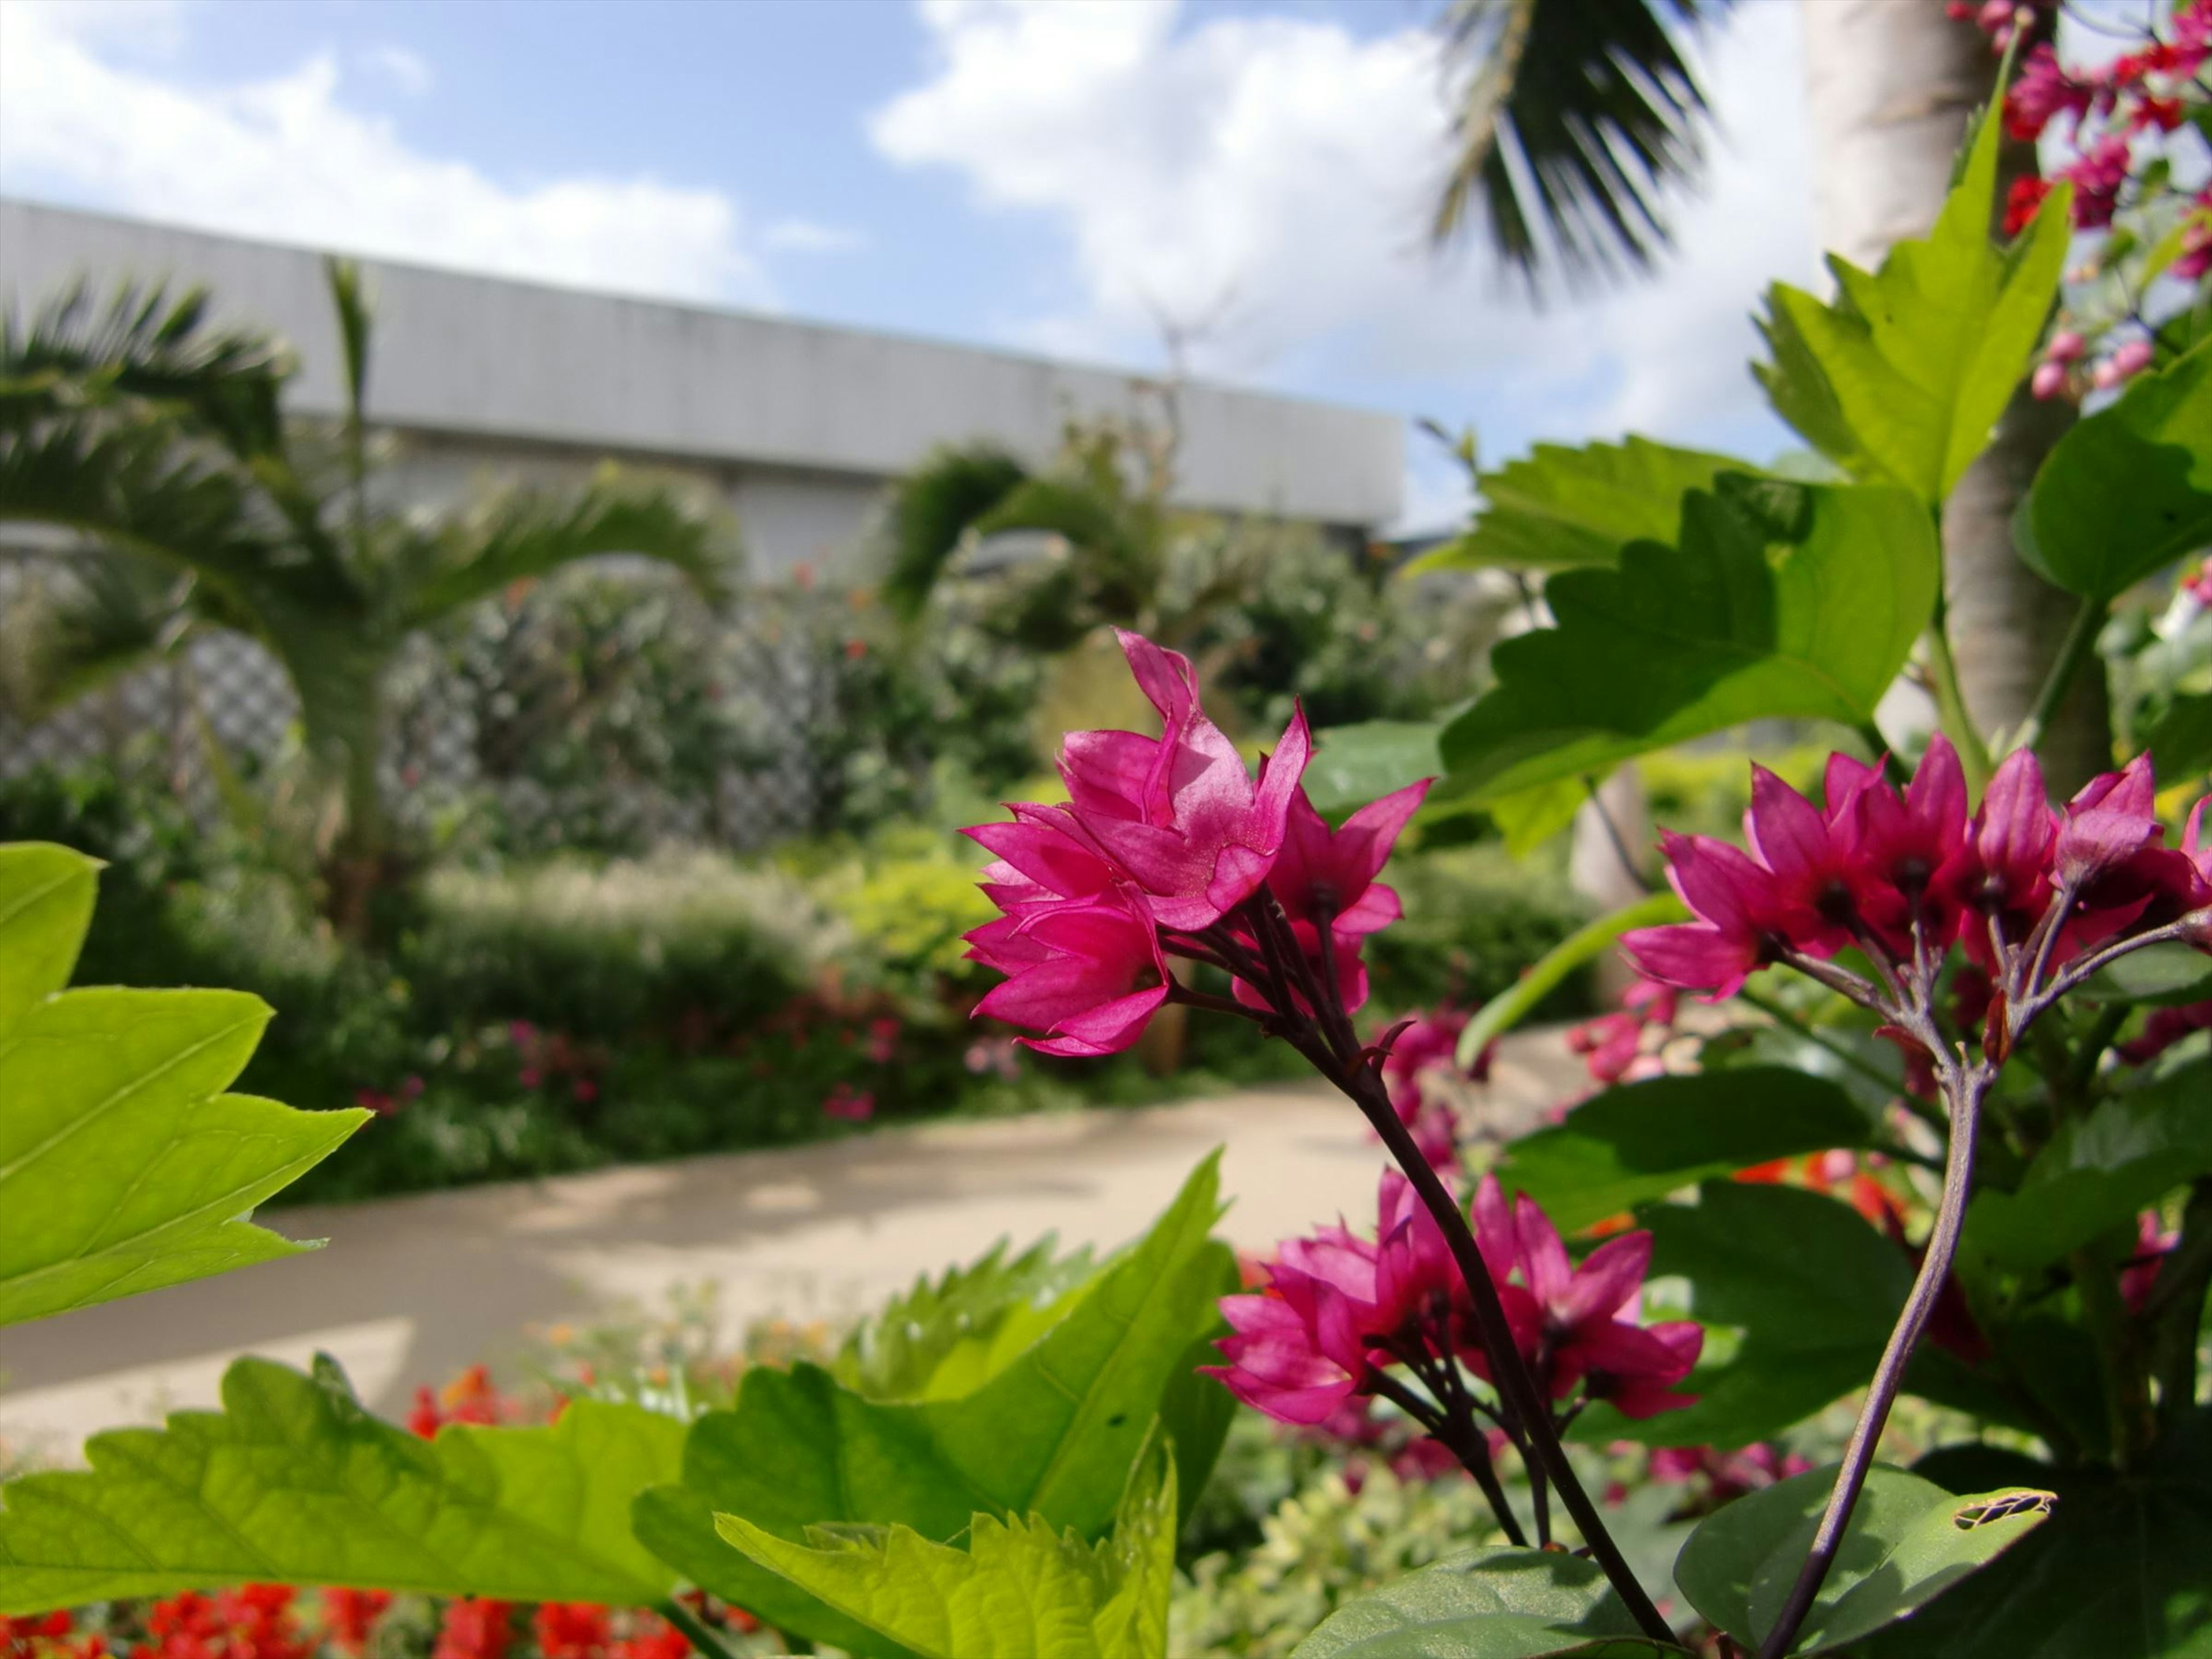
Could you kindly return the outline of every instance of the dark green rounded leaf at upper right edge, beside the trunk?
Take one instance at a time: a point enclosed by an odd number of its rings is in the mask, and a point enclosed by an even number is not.
[[[2086,599],[2212,542],[2212,343],[2075,422],[2037,469],[2017,529],[2022,557]],[[2161,752],[2159,770],[2192,768]]]

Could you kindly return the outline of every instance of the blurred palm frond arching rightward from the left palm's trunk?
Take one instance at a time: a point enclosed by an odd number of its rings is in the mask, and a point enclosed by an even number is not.
[[[734,529],[672,489],[595,482],[580,495],[507,491],[427,531],[407,529],[392,568],[392,613],[416,628],[465,604],[602,553],[675,566],[721,602],[741,551]]]

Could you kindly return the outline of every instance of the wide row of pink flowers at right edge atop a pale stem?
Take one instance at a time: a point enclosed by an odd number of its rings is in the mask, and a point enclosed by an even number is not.
[[[1639,929],[1621,945],[1646,978],[1714,998],[1772,962],[1825,962],[1845,947],[1905,964],[1962,945],[1997,973],[2057,929],[2042,960],[2059,964],[2212,905],[2203,803],[2174,849],[2152,796],[2143,754],[2055,812],[2035,754],[2017,750],[1969,818],[1966,779],[1942,737],[1902,794],[1878,768],[1832,757],[1825,807],[1754,768],[1750,852],[1668,834],[1668,878],[1697,920]],[[2192,942],[2212,949],[2212,922]]]

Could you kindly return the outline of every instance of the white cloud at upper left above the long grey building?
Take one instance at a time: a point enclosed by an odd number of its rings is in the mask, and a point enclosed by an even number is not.
[[[113,18],[102,4],[0,4],[0,188],[504,276],[772,303],[719,190],[498,181],[349,104],[327,53],[210,88],[126,60]]]

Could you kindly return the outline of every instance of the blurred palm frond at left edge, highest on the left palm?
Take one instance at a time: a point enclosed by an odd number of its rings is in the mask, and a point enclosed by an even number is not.
[[[232,456],[283,449],[290,358],[250,330],[208,323],[206,290],[124,285],[102,310],[84,283],[22,323],[0,316],[0,427],[135,398],[175,411]]]

